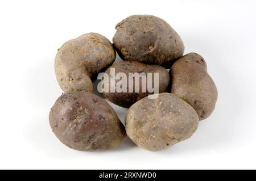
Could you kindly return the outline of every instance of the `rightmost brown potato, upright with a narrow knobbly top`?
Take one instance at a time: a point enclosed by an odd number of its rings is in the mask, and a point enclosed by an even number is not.
[[[171,66],[170,77],[171,92],[189,103],[200,120],[213,112],[218,92],[203,57],[197,53],[181,57]]]

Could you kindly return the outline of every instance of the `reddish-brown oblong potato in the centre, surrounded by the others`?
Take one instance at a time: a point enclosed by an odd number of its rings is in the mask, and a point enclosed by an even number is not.
[[[118,106],[129,108],[139,99],[142,99],[149,94],[166,92],[168,90],[170,77],[168,71],[162,66],[146,65],[140,62],[121,61],[113,64],[105,71],[105,73],[108,74],[108,77],[112,76],[110,70],[113,69],[115,73],[115,82],[111,84],[109,79],[108,84],[104,85],[108,87],[108,92],[104,92],[104,96],[106,96],[106,98]],[[117,74],[119,73],[125,73],[126,79],[123,77],[122,79],[118,79]],[[139,77],[129,77],[129,73],[137,73]],[[148,73],[151,73],[151,75]],[[155,74],[157,74],[156,76],[158,77],[155,77]],[[126,87],[125,92],[121,92],[122,90],[120,91],[115,89],[115,87],[118,87],[118,82],[123,81],[124,79],[125,81],[123,82],[122,87]],[[136,79],[138,80],[138,86],[135,86]],[[132,83],[130,83],[131,81]],[[154,85],[155,83],[158,84]],[[131,92],[129,92],[130,85],[133,86],[133,91]],[[142,89],[143,86],[144,89]],[[148,86],[150,87],[150,90],[148,90]],[[110,91],[111,87],[114,87],[114,92]],[[135,91],[135,88],[138,89],[137,92]],[[154,91],[156,88],[158,88],[157,92]]]

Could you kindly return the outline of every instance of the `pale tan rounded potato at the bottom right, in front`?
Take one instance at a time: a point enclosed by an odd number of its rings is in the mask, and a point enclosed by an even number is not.
[[[139,100],[129,108],[125,117],[127,136],[150,151],[164,150],[188,139],[198,124],[196,111],[170,93],[159,94],[156,99]]]

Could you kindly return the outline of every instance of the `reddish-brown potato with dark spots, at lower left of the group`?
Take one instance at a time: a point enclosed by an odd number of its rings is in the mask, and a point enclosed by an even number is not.
[[[86,91],[61,95],[49,113],[56,137],[69,148],[82,151],[116,148],[125,139],[125,127],[105,100]]]

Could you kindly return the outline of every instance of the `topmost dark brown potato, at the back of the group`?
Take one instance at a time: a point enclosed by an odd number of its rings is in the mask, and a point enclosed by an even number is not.
[[[170,64],[183,55],[184,44],[172,27],[152,15],[132,15],[115,26],[114,47],[123,60]]]

